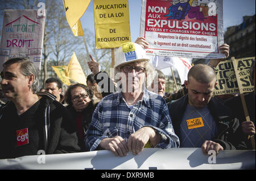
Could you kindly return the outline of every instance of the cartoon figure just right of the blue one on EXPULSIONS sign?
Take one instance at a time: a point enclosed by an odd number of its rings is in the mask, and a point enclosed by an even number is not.
[[[198,0],[192,0],[189,4],[191,5],[191,9],[188,11],[188,18],[196,18],[197,20],[207,19],[204,17],[203,7],[198,6]]]

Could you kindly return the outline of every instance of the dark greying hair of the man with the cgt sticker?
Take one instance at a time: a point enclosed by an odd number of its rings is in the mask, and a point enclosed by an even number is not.
[[[36,66],[27,58],[11,58],[3,64],[3,68],[9,65],[13,65],[15,63],[20,64],[20,72],[24,76],[28,77],[31,74],[34,75],[35,79],[34,79],[34,82],[32,82],[31,90],[33,94],[36,94],[36,92],[38,91],[38,84],[39,84],[39,79],[38,79],[39,72]]]

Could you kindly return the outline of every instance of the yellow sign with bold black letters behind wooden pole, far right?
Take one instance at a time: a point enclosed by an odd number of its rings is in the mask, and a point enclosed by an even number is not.
[[[243,92],[254,91],[253,83],[250,81],[250,66],[254,60],[255,57],[236,59]],[[232,60],[221,61],[216,68],[216,74],[217,86],[213,95],[240,93]]]

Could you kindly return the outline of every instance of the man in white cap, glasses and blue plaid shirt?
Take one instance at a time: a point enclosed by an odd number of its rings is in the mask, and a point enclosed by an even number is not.
[[[135,43],[123,44],[115,54],[115,78],[122,90],[107,95],[93,113],[86,132],[85,145],[90,151],[111,150],[124,156],[134,155],[144,146],[176,148],[179,138],[174,133],[166,102],[146,89],[145,81],[154,72],[144,49]]]

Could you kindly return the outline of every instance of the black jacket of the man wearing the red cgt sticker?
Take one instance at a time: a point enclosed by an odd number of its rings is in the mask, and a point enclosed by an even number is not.
[[[13,102],[1,109],[1,159],[36,155],[39,150],[46,154],[80,151],[75,125],[67,108],[48,92],[38,95],[42,98],[22,115],[18,116]],[[28,144],[17,146],[16,134],[23,128],[28,128]]]

